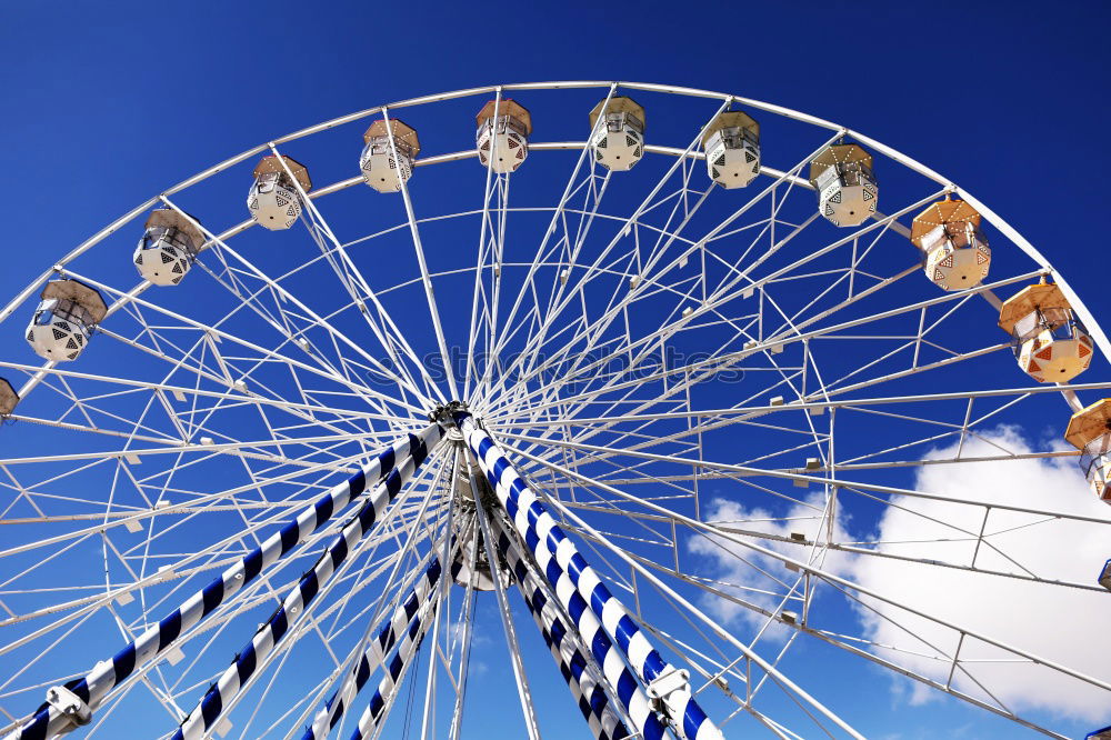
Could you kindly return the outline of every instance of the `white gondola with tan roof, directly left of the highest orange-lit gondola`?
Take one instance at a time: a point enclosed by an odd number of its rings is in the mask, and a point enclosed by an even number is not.
[[[831,144],[810,162],[818,212],[834,226],[855,227],[875,213],[880,190],[872,156],[858,144]]]

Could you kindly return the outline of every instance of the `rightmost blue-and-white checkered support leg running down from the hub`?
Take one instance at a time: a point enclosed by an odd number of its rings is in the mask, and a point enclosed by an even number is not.
[[[548,513],[540,498],[518,474],[506,452],[474,423],[471,414],[458,411],[453,419],[467,446],[478,458],[517,533],[532,550],[537,563],[556,587],[556,594],[563,608],[577,620],[581,620],[585,610],[593,611],[601,621],[604,633],[611,638],[612,643],[604,651],[592,648],[607,678],[611,678],[608,661],[620,661],[620,654],[614,653],[623,653],[634,673],[643,681],[649,696],[659,697],[663,713],[680,738],[722,740],[721,730],[694,699],[684,674],[657,652],[624,604],[610,592],[579,553],[579,549],[556,523],[556,519]],[[582,631],[581,623],[579,628]],[[615,688],[621,691],[620,687]]]

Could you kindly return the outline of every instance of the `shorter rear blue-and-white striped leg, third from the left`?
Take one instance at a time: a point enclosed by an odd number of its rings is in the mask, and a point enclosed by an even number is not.
[[[451,578],[459,573],[462,563],[458,560],[451,563]],[[307,728],[301,740],[324,740],[329,731],[334,728],[347,707],[351,706],[351,700],[362,691],[371,674],[378,670],[379,666],[386,664],[386,657],[397,644],[398,640],[411,627],[413,618],[418,612],[427,611],[428,606],[439,597],[440,574],[443,569],[440,567],[440,559],[433,557],[424,572],[417,579],[404,601],[393,611],[393,616],[379,631],[368,647],[367,651],[359,658],[353,672],[349,673],[340,686],[339,690],[324,704],[323,709],[317,712],[312,720],[312,726]],[[337,701],[337,697],[339,700]]]

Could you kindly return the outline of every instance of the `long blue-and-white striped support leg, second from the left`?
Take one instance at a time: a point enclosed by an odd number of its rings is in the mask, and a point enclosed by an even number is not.
[[[301,578],[278,611],[259,628],[251,641],[243,646],[220,679],[209,687],[201,701],[173,733],[173,740],[199,740],[206,731],[216,726],[223,716],[224,708],[250,680],[259,666],[266,662],[274,647],[289,632],[290,626],[304,614],[321,587],[358,547],[359,540],[370,531],[386,508],[397,498],[401,487],[412,478],[417,464],[416,457],[406,458],[384,482],[379,483],[369,500],[343,526],[312,570]]]

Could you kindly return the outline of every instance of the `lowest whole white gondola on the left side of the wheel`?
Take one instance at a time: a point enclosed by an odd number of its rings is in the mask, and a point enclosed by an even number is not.
[[[27,327],[27,341],[43,360],[76,360],[89,343],[93,328],[108,313],[96,289],[78,280],[53,280]]]

